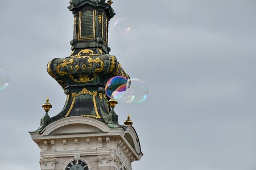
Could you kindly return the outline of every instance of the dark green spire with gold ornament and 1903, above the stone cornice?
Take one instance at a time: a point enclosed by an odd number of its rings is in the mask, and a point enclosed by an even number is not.
[[[68,8],[75,21],[73,52],[47,65],[48,73],[68,95],[63,111],[52,117],[51,122],[62,117],[85,116],[118,127],[118,116],[110,114],[105,84],[115,75],[129,75],[117,58],[109,55],[108,24],[114,10],[105,1],[72,0],[70,4]]]

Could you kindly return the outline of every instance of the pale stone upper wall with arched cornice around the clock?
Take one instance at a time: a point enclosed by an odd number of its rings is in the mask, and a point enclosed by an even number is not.
[[[92,118],[75,118],[79,124],[72,124],[67,117],[55,122],[57,128],[48,125],[42,134],[31,133],[41,148],[41,169],[64,170],[72,160],[84,160],[89,170],[131,170],[131,163],[141,158],[140,148],[130,145],[122,128],[110,129]],[[97,127],[92,126],[95,123]]]

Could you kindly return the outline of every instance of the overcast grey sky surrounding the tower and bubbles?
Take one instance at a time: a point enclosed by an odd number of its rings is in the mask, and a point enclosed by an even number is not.
[[[36,130],[46,97],[61,111],[65,95],[47,62],[71,53],[68,0],[0,1],[0,169],[40,169]],[[148,100],[118,104],[119,123],[131,114],[143,158],[133,169],[256,169],[256,1],[115,0],[127,35],[109,30],[110,54]],[[113,19],[113,20],[114,20]]]

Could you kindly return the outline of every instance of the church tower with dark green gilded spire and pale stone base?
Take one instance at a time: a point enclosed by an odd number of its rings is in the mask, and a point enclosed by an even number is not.
[[[48,170],[130,170],[143,156],[130,116],[119,125],[117,101],[105,94],[106,82],[116,75],[129,78],[115,56],[109,54],[108,26],[115,15],[109,0],[72,0],[74,15],[72,53],[54,58],[47,71],[67,95],[63,110],[46,114],[33,141],[39,146],[40,167]]]

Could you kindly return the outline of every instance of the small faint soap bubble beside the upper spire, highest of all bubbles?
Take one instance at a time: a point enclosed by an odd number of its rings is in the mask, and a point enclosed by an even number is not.
[[[126,34],[130,31],[131,25],[129,20],[125,18],[118,18],[114,22],[115,31],[121,34]]]

